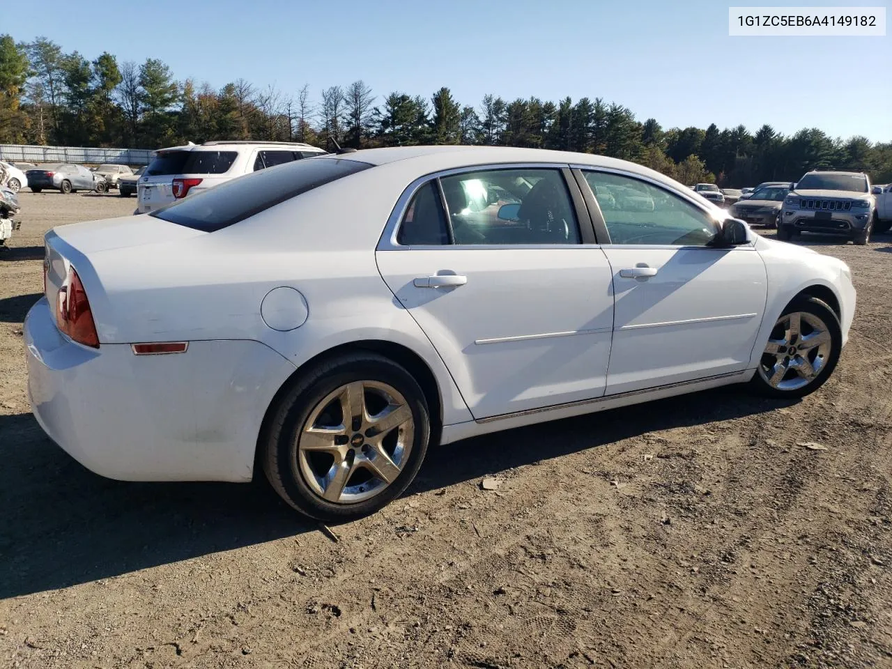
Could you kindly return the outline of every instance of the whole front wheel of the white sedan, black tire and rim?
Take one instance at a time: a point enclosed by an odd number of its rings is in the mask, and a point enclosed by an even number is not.
[[[781,312],[750,386],[766,397],[805,397],[830,378],[841,350],[842,327],[833,310],[815,297],[797,297]]]

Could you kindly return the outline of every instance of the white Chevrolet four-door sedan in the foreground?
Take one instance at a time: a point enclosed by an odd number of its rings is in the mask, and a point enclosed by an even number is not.
[[[432,442],[725,384],[813,392],[847,341],[849,268],[727,217],[588,154],[263,169],[47,233],[31,406],[100,475],[247,482],[257,463],[337,521],[398,496]]]

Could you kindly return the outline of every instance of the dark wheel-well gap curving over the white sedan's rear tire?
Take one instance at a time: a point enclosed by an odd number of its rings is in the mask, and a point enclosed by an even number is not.
[[[364,351],[377,353],[384,358],[392,360],[402,368],[405,368],[417,384],[421,386],[421,390],[425,393],[425,401],[430,411],[430,429],[431,443],[438,443],[442,434],[442,392],[440,385],[437,384],[434,371],[425,362],[425,360],[412,351],[409,347],[400,343],[388,342],[379,339],[359,340],[351,343],[343,343],[326,351],[318,353],[316,356],[304,362],[299,368],[295,369],[291,376],[285,379],[285,383],[281,385],[272,400],[269,402],[263,420],[260,423],[260,432],[257,436],[257,443],[254,447],[254,469],[253,479],[259,481],[263,478],[263,466],[261,458],[263,455],[262,445],[266,443],[269,434],[270,422],[276,416],[277,409],[288,392],[291,391],[293,385],[297,383],[303,376],[306,376],[312,369],[318,368],[320,365],[326,364],[327,361],[339,358],[350,353],[361,353]]]

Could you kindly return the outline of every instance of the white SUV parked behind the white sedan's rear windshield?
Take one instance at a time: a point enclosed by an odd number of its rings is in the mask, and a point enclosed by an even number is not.
[[[155,152],[136,184],[136,211],[143,214],[229,179],[283,162],[324,155],[316,146],[294,142],[214,141],[171,146]]]

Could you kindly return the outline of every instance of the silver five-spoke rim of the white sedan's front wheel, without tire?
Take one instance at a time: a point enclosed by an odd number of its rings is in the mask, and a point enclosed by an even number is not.
[[[830,329],[821,318],[807,311],[784,314],[769,336],[759,374],[781,391],[804,388],[821,374],[832,346]]]

